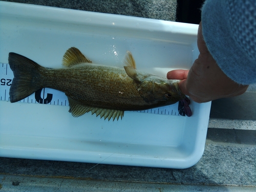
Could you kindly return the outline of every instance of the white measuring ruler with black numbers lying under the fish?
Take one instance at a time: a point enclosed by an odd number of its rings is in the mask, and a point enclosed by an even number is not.
[[[8,63],[0,63],[0,100],[1,101],[10,101],[9,91],[13,79],[13,72]],[[50,89],[43,88],[32,95],[26,97],[23,100],[18,102],[24,103],[41,103],[41,104],[53,104],[53,105],[63,105],[69,106],[68,97],[65,93]],[[177,115],[177,116],[185,116],[180,106],[181,103],[177,102],[176,104],[163,106],[161,108],[154,108],[144,111],[136,111],[139,113],[152,113],[152,114],[160,114],[160,115]]]

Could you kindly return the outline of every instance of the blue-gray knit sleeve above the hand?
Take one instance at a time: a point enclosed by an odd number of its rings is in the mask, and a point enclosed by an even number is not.
[[[256,82],[256,1],[206,0],[202,30],[209,52],[229,78]]]

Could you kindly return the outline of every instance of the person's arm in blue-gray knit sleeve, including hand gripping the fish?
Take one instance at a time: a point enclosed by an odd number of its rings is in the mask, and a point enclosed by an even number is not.
[[[256,4],[207,0],[198,48],[200,55],[189,72],[168,72],[167,78],[184,79],[180,89],[197,102],[244,93],[256,82]]]

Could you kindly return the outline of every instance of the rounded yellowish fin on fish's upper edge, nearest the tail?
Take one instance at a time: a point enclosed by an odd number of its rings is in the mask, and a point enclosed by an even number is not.
[[[69,48],[63,56],[62,65],[72,67],[80,63],[92,62],[87,59],[77,48]]]

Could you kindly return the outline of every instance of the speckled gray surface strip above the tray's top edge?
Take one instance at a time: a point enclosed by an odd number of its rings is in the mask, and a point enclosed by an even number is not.
[[[176,19],[177,7],[176,0],[7,0],[7,2],[44,5],[171,21],[175,21]]]

